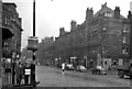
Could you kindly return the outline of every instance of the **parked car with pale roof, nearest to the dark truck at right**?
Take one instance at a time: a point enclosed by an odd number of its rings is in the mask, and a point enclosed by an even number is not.
[[[96,68],[91,69],[91,74],[98,74],[98,75],[107,75],[107,69],[102,66],[97,66]]]

